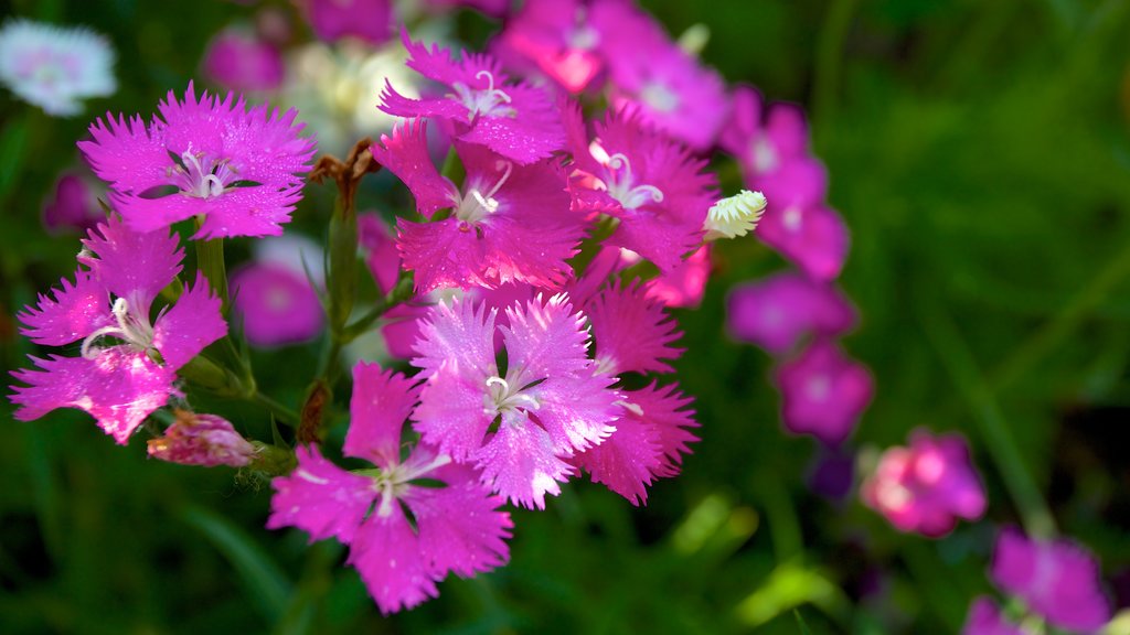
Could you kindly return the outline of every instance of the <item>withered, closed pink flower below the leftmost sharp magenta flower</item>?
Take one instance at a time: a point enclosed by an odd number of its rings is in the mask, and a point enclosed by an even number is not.
[[[255,455],[255,446],[240,436],[227,419],[186,410],[177,410],[165,436],[148,443],[150,456],[182,466],[241,468]]]

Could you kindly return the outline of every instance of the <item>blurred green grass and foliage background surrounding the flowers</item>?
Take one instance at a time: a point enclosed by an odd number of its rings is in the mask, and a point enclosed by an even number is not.
[[[863,322],[846,347],[878,385],[850,450],[866,459],[922,425],[962,430],[985,519],[925,540],[854,492],[811,492],[822,451],[782,433],[770,358],[723,328],[727,290],[783,263],[734,242],[716,251],[703,306],[678,315],[680,382],[702,423],[683,475],[644,508],[575,481],[546,512],[514,512],[507,567],[449,580],[388,619],[337,545],[262,529],[269,486],[148,461],[142,442],[118,447],[81,414],[17,423],[3,400],[0,633],[796,634],[797,615],[811,633],[955,633],[990,592],[997,528],[1017,522],[986,429],[1017,441],[1060,530],[1097,553],[1112,599],[1130,603],[1130,2],[644,6],[675,35],[706,25],[703,56],[728,80],[809,110],[853,235],[843,285]],[[56,174],[79,162],[75,141],[95,113],[149,113],[183,89],[211,35],[253,11],[0,1],[5,17],[108,35],[121,84],[67,120],[0,92],[6,371],[32,350],[12,314],[73,268],[77,237],[38,219]],[[459,18],[476,45],[489,24]],[[329,194],[307,194],[296,226],[318,235]],[[289,385],[276,373],[263,383]],[[296,401],[302,381],[279,397]]]

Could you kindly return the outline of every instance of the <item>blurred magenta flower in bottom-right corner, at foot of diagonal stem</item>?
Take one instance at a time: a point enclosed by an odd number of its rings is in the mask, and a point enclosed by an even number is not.
[[[1052,626],[1093,633],[1111,619],[1098,573],[1098,562],[1072,540],[1031,540],[1006,529],[997,540],[990,575]]]

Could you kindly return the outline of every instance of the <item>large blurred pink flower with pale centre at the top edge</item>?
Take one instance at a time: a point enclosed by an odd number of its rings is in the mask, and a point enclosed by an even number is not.
[[[631,2],[594,2],[590,24],[608,64],[612,105],[633,105],[647,124],[697,151],[709,149],[730,110],[721,76]]]

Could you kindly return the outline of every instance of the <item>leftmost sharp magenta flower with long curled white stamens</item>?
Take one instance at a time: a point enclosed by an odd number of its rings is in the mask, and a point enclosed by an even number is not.
[[[224,337],[227,324],[203,277],[154,321],[154,298],[181,270],[176,238],[137,234],[116,218],[98,230],[82,241],[79,262],[87,269],[76,271],[75,282],[62,279],[53,297],[40,295],[34,308],[18,315],[21,332],[35,343],[81,341],[81,354],[32,357],[38,368],[12,373],[27,385],[12,386],[10,399],[23,421],[56,408],[85,410],[125,444],[150,412],[180,394],[173,384],[177,368]]]

